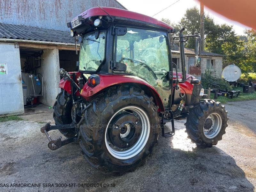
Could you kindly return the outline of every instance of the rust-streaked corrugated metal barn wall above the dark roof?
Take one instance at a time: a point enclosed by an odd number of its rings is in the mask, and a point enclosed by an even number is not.
[[[97,5],[124,9],[115,0],[1,0],[0,22],[69,31],[67,22]]]

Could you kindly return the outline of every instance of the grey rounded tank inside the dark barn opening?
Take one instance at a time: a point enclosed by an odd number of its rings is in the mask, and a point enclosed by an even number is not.
[[[32,101],[34,98],[42,96],[42,94],[40,94],[42,90],[42,82],[38,76],[31,73],[21,73],[21,78],[24,105],[27,105],[27,103],[33,104]]]

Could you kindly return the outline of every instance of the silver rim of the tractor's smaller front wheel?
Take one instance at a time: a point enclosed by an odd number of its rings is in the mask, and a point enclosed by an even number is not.
[[[222,126],[222,118],[218,113],[212,113],[204,121],[204,136],[212,139],[216,137]]]

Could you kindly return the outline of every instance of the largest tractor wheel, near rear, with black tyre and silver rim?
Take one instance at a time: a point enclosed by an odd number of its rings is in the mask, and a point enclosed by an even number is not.
[[[106,174],[143,165],[158,139],[158,107],[140,88],[121,85],[98,95],[85,112],[79,141],[84,158]]]

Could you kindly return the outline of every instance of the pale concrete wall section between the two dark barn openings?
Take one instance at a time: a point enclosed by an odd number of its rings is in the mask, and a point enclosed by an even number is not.
[[[37,69],[37,73],[41,73],[43,76],[43,96],[39,97],[39,102],[53,106],[59,93],[59,50],[57,48],[45,49],[41,57],[44,59],[42,59],[41,68]]]

